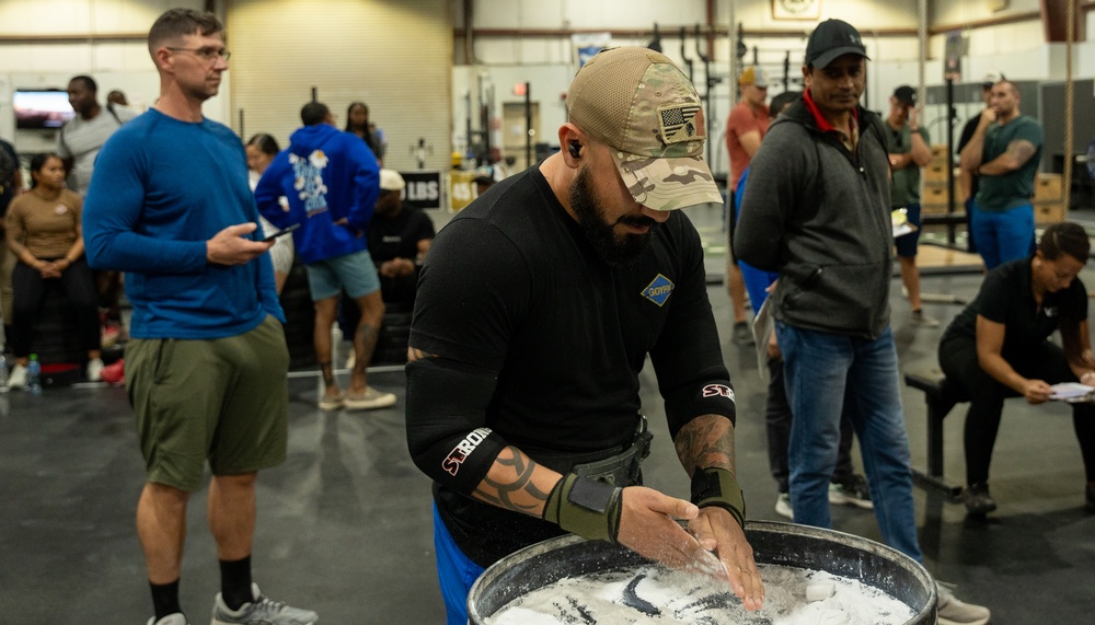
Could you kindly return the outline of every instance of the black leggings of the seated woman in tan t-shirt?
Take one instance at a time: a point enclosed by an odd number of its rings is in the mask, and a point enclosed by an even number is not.
[[[16,358],[31,355],[31,334],[34,320],[38,315],[42,300],[46,296],[49,283],[57,283],[76,309],[76,319],[80,349],[99,349],[102,335],[99,328],[99,293],[95,280],[88,267],[88,261],[82,256],[76,263],[61,271],[60,278],[45,279],[42,273],[20,261],[11,274],[12,285],[12,323],[11,349]]]

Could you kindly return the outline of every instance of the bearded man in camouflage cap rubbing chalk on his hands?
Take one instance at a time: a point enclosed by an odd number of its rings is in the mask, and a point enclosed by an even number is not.
[[[625,47],[583,67],[567,109],[563,150],[453,218],[418,282],[407,442],[435,481],[448,623],[484,567],[566,532],[672,566],[714,551],[757,610],[734,391],[700,238],[675,210],[722,201],[700,97],[667,57]],[[641,486],[647,355],[691,501]]]

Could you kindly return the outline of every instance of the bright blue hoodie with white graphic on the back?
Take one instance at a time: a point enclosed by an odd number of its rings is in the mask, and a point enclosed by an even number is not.
[[[255,187],[258,211],[270,223],[301,224],[292,242],[306,265],[365,251],[379,195],[380,166],[368,146],[330,124],[295,131]]]

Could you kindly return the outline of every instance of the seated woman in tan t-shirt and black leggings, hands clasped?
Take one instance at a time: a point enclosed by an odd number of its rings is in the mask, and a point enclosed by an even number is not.
[[[26,384],[34,317],[53,281],[58,281],[72,306],[80,346],[88,350],[88,379],[99,380],[99,298],[83,255],[80,211],[83,200],[65,187],[65,165],[57,154],[31,161],[31,190],[12,200],[5,225],[8,247],[19,258],[12,271],[14,314],[9,337],[15,367],[9,384]]]

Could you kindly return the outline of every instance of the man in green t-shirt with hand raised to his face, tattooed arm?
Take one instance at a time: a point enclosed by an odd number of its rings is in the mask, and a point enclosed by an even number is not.
[[[1034,250],[1034,175],[1041,161],[1041,126],[1019,113],[1019,91],[992,85],[991,104],[963,148],[961,169],[980,176],[970,227],[987,269]]]

